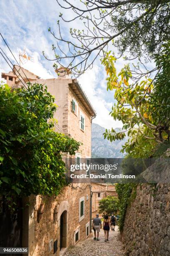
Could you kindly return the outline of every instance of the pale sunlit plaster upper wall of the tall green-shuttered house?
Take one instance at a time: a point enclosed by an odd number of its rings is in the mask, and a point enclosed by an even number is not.
[[[52,78],[52,79],[36,79],[32,83],[46,84],[47,90],[55,97],[55,104],[58,106],[54,113],[59,127],[57,132],[70,134],[72,138],[82,142],[80,146],[81,158],[91,156],[91,116],[84,108],[78,97],[72,92],[69,83],[72,79]],[[71,110],[72,99],[78,103],[77,115]],[[80,112],[85,116],[85,131],[80,129]],[[59,129],[59,130],[58,130]]]

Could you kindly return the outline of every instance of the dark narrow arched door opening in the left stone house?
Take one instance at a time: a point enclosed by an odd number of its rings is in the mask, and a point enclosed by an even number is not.
[[[60,251],[67,247],[67,211],[60,216]]]

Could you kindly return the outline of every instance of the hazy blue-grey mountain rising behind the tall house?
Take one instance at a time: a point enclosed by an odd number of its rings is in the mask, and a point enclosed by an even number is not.
[[[121,130],[121,128],[115,128],[116,132]],[[128,137],[121,141],[110,142],[104,139],[104,132],[105,128],[92,123],[92,158],[123,158],[125,154],[120,153],[120,150]]]

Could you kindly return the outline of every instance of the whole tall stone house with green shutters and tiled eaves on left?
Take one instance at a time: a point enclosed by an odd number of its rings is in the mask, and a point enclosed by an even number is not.
[[[10,86],[22,86],[15,75],[16,70],[20,72],[22,82],[28,82],[28,78],[31,83],[47,85],[58,106],[54,115],[56,131],[70,134],[82,142],[74,156],[77,161],[90,158],[91,123],[95,111],[77,79],[71,79],[68,72],[58,78],[40,79],[15,65],[13,72],[2,73]],[[23,212],[22,246],[29,247],[29,256],[61,256],[68,246],[85,240],[90,234],[90,199],[90,184],[69,184],[57,197],[32,195],[25,199],[30,206]]]

